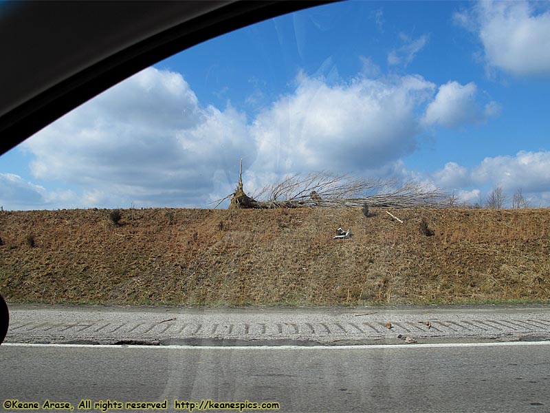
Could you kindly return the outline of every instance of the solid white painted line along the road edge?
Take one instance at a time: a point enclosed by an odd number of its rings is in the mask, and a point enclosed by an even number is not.
[[[425,344],[364,344],[358,346],[143,346],[126,344],[37,344],[2,343],[2,347],[54,347],[54,348],[139,348],[168,350],[393,350],[396,348],[456,348],[456,347],[506,347],[506,346],[550,346],[550,341],[509,341],[499,343],[425,343]]]

